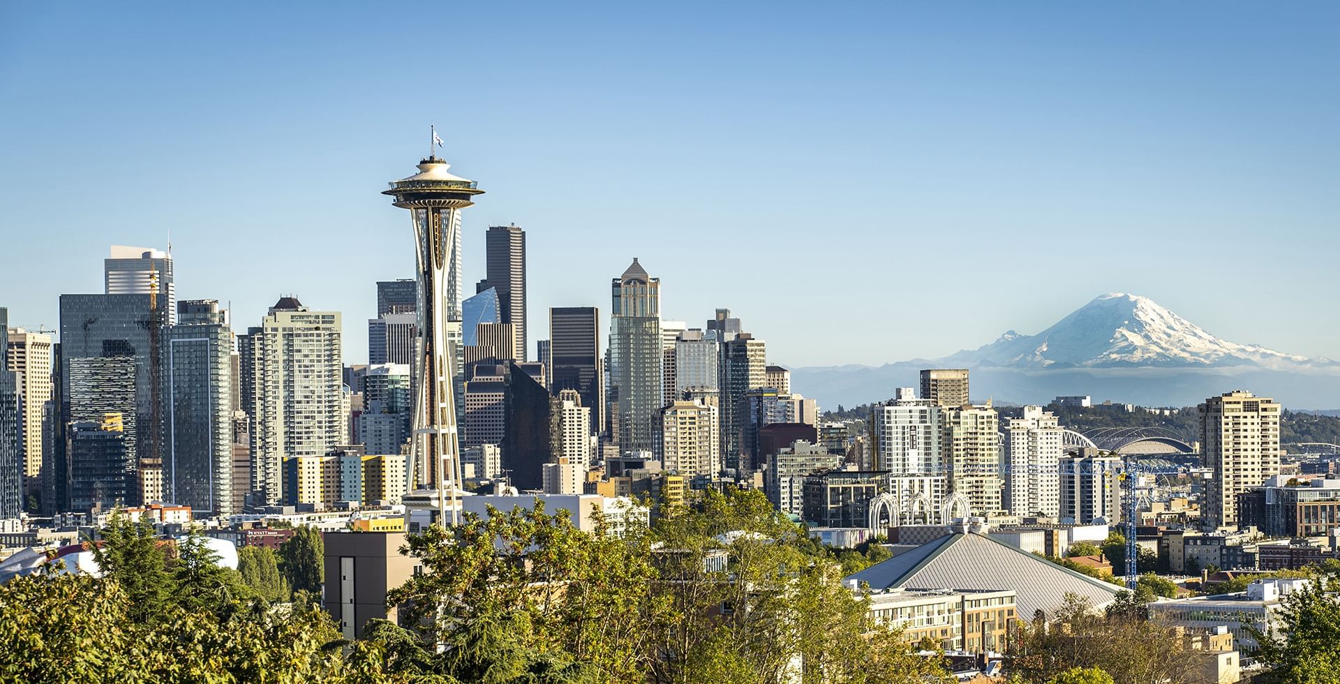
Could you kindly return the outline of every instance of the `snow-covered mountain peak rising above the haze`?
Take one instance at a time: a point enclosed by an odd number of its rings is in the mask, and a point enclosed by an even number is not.
[[[945,361],[1025,367],[1296,366],[1308,358],[1219,339],[1152,299],[1108,292],[1036,335],[1010,330]]]

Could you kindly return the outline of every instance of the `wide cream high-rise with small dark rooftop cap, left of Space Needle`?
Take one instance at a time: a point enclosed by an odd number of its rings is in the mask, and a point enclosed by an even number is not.
[[[348,435],[340,314],[281,298],[261,322],[252,467],[268,503],[285,499],[283,460],[326,456]]]

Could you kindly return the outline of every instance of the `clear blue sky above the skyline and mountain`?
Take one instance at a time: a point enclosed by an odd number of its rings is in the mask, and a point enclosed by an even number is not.
[[[935,358],[1108,291],[1340,358],[1336,3],[0,4],[0,306],[111,244],[245,330],[413,274],[429,125],[527,231],[531,354],[634,256],[770,362]]]

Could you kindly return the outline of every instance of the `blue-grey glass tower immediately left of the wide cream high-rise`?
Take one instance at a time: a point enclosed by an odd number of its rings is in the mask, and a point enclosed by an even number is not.
[[[228,311],[214,299],[177,304],[162,345],[163,499],[232,515],[232,351]]]

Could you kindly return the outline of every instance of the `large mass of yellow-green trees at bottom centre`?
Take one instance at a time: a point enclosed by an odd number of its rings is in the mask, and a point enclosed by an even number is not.
[[[938,661],[867,621],[839,563],[761,492],[709,491],[620,536],[560,511],[490,511],[409,551],[390,597],[422,634],[368,628],[348,668],[461,681],[934,681]],[[729,567],[714,559],[729,557]],[[444,645],[441,652],[437,645]],[[929,679],[927,679],[929,677]]]

